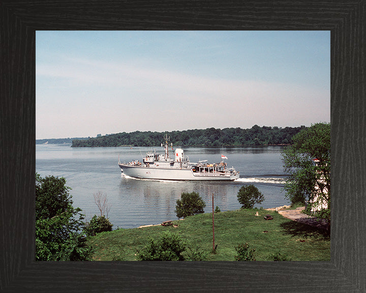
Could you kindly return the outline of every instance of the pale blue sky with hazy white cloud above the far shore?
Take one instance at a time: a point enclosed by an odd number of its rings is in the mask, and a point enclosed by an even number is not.
[[[330,122],[329,31],[37,31],[36,138]]]

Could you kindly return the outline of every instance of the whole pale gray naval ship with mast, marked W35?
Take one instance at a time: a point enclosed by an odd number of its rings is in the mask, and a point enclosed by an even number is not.
[[[169,157],[169,139],[166,137],[164,149],[165,154],[148,152],[142,159],[129,163],[120,163],[118,166],[125,175],[140,179],[156,180],[235,180],[239,178],[239,172],[227,168],[223,162],[225,156],[221,156],[220,163],[210,164],[207,160],[191,163],[187,156],[184,156],[182,149],[176,149],[174,159]],[[172,143],[170,144],[171,149]],[[161,144],[163,147],[163,143]],[[174,150],[173,150],[174,151]]]

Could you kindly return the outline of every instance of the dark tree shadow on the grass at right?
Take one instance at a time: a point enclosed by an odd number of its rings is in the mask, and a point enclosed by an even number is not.
[[[327,230],[314,227],[308,224],[299,223],[296,221],[288,221],[281,224],[285,235],[301,238],[322,238],[330,240],[330,234]]]

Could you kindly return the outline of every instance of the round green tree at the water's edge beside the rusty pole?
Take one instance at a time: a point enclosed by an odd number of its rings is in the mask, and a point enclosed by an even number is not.
[[[181,199],[177,199],[174,212],[178,218],[185,218],[204,213],[205,207],[206,203],[197,192],[184,192]]]

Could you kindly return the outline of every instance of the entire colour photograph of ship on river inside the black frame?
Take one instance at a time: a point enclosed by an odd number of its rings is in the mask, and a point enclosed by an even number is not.
[[[330,31],[36,31],[37,261],[330,261]]]

